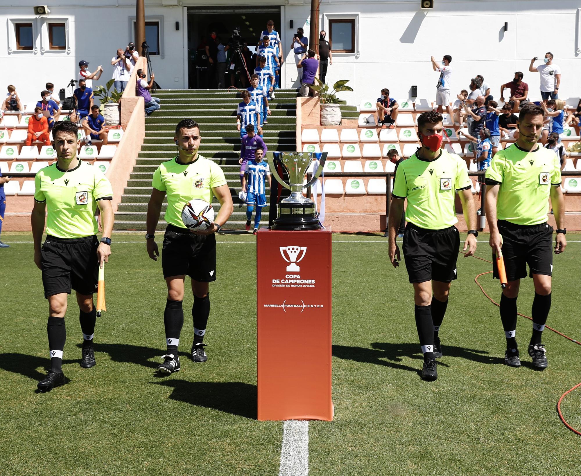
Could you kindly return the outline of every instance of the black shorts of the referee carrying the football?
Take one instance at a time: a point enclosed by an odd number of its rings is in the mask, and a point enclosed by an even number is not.
[[[216,281],[216,235],[194,235],[185,228],[167,225],[162,269],[164,279],[187,275],[202,283]]]

